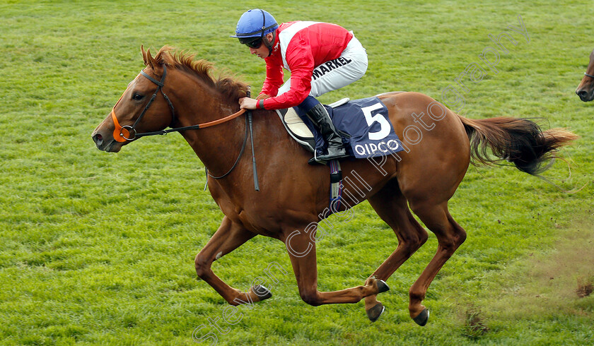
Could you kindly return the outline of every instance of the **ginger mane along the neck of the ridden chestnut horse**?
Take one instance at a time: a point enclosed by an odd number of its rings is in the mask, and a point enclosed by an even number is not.
[[[151,60],[151,54],[146,51],[144,54],[145,63]],[[187,52],[177,52],[173,47],[163,46],[157,52],[153,61],[156,64],[165,64],[168,67],[180,68],[200,78],[222,95],[226,95],[230,100],[238,100],[240,97],[245,97],[248,86],[233,78],[230,73],[219,72],[219,77],[215,78],[213,75],[214,65],[204,59],[194,60],[196,54]]]

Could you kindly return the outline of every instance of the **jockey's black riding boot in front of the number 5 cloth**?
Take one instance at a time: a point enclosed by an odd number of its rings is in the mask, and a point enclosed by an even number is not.
[[[347,150],[344,149],[344,145],[342,145],[342,139],[340,135],[334,128],[334,124],[332,124],[332,119],[330,119],[330,115],[326,111],[326,108],[321,104],[315,105],[312,109],[307,112],[308,118],[313,121],[313,124],[320,129],[322,136],[324,137],[326,143],[328,143],[328,154],[327,155],[320,155],[315,157],[318,159],[317,161],[331,161],[331,160],[339,160],[345,157],[349,157],[347,154]],[[310,160],[309,163],[315,163]],[[325,163],[325,162],[320,162]]]

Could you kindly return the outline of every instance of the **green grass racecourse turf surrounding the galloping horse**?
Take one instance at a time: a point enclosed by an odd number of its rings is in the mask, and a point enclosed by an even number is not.
[[[228,38],[241,13],[259,6],[279,22],[338,23],[366,47],[366,76],[323,102],[392,90],[445,102],[443,90],[476,63],[488,75],[465,80],[465,117],[542,118],[581,136],[545,174],[560,189],[513,167],[470,167],[450,201],[468,238],[429,287],[427,326],[410,320],[407,304],[436,249],[433,234],[388,280],[375,323],[363,302],[302,302],[283,244],[256,237],[216,261],[215,273],[242,289],[273,261],[288,274],[275,272],[272,299],[224,322],[228,305],[194,271],[222,214],[190,146],[173,134],[107,154],[91,141],[144,67],[141,44],[194,52],[259,92],[263,61]],[[590,9],[590,1],[1,0],[0,344],[194,345],[193,334],[206,333],[219,345],[594,344],[594,294],[576,292],[594,284],[594,102],[574,94],[594,47]],[[508,28],[518,16],[529,40]],[[489,34],[503,30],[517,44],[506,45],[495,74],[479,54],[497,49]],[[320,290],[361,285],[395,249],[368,203],[354,214],[318,243]]]

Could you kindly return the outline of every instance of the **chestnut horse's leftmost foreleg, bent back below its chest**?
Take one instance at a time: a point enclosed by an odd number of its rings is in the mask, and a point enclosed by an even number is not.
[[[216,259],[237,249],[245,241],[252,239],[254,236],[254,233],[231,222],[228,217],[223,217],[223,222],[221,222],[219,229],[216,230],[209,242],[204,246],[204,249],[197,254],[194,260],[196,273],[199,278],[211,285],[229,304],[239,305],[242,303],[259,302],[271,296],[264,287],[251,287],[250,292],[247,293],[236,290],[219,279],[211,270],[211,265]]]

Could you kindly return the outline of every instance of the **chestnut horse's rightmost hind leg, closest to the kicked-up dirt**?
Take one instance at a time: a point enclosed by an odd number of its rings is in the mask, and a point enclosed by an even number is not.
[[[411,208],[426,227],[435,233],[438,240],[435,256],[409,290],[410,316],[420,326],[424,326],[429,319],[429,312],[425,306],[421,305],[421,302],[425,299],[427,288],[429,288],[431,281],[433,281],[445,261],[448,261],[456,249],[465,241],[466,232],[448,212],[447,201],[438,205],[429,202],[411,202]]]

